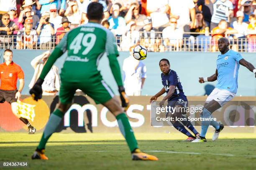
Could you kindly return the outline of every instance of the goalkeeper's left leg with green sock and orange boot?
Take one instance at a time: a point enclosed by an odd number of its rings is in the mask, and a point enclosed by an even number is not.
[[[32,159],[48,160],[46,155],[44,155],[45,145],[49,140],[49,138],[51,137],[51,135],[55,132],[56,128],[59,126],[59,123],[61,122],[61,119],[64,116],[64,113],[67,112],[67,110],[69,110],[69,107],[71,105],[72,103],[63,104],[59,102],[58,108],[49,117],[49,120],[44,129],[44,133],[42,135],[40,143],[36,148],[36,151],[32,155]]]

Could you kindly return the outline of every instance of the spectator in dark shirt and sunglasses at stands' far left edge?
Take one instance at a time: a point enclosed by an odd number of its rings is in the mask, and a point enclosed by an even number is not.
[[[8,13],[3,14],[0,20],[0,35],[13,35],[13,31],[18,30],[18,26],[10,21],[10,15]],[[10,45],[13,38],[9,36],[0,36],[0,44]]]

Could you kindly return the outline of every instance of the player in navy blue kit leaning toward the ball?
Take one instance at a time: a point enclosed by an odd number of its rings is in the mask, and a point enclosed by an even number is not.
[[[163,98],[163,100],[159,103],[159,105],[162,107],[164,105],[164,102],[168,100],[168,105],[167,107],[171,108],[179,108],[179,107],[184,107],[185,109],[177,109],[174,112],[168,112],[166,113],[166,117],[174,117],[174,121],[172,122],[172,125],[174,128],[179,130],[181,133],[184,133],[185,135],[188,136],[188,138],[185,141],[193,141],[195,140],[198,136],[199,133],[197,130],[194,128],[194,126],[191,124],[190,121],[184,120],[184,121],[176,121],[175,117],[183,117],[182,114],[186,114],[186,112],[182,112],[180,110],[186,110],[188,106],[188,101],[187,97],[184,95],[183,89],[181,82],[179,80],[179,76],[174,70],[170,69],[170,62],[167,59],[161,59],[159,62],[159,67],[161,70],[161,78],[162,78],[162,84],[164,87],[153,97],[151,97],[150,102],[155,102],[157,100],[157,97],[163,95],[166,92],[166,96]],[[182,125],[183,124],[183,125]],[[189,128],[194,134],[192,135],[187,131],[187,129],[184,127],[184,125]]]

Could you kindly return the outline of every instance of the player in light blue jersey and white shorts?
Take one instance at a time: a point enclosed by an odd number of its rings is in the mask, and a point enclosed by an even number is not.
[[[218,83],[211,94],[207,97],[202,112],[202,117],[212,117],[211,114],[218,110],[220,107],[225,105],[227,102],[232,100],[237,92],[237,79],[239,65],[243,65],[255,74],[255,67],[248,61],[244,60],[240,53],[229,49],[228,39],[223,37],[218,40],[218,48],[221,52],[217,58],[217,69],[214,75],[210,77],[199,77],[199,82],[213,82],[218,80]],[[202,121],[201,134],[192,142],[206,142],[205,135],[209,125],[215,128],[215,133],[212,136],[212,141],[218,139],[220,131],[223,130],[224,126],[216,121]]]

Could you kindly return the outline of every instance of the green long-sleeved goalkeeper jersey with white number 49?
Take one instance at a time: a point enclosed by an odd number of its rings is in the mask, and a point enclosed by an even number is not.
[[[65,51],[67,57],[61,69],[61,81],[91,82],[98,78],[100,71],[97,65],[106,52],[115,81],[118,86],[123,86],[115,37],[102,25],[87,23],[67,32],[46,62],[41,79],[44,79],[56,59]]]

